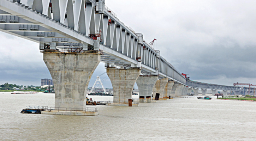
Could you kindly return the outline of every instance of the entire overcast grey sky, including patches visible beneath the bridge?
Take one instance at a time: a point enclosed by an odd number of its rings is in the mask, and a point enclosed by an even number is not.
[[[106,0],[125,25],[142,33],[168,62],[191,80],[256,85],[255,0]],[[39,44],[0,32],[0,84],[39,86],[51,78]],[[104,63],[96,76],[104,73]],[[101,78],[108,78],[103,74]],[[105,78],[105,79],[106,79]],[[111,88],[106,79],[104,87]]]

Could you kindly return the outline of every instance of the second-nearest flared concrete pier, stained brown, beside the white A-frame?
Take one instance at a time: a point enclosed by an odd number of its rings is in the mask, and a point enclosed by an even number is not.
[[[114,102],[127,102],[132,98],[133,86],[141,73],[139,68],[107,68],[108,77],[114,91]]]

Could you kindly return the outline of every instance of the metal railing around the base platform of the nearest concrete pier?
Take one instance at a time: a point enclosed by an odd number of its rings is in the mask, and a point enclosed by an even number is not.
[[[98,109],[97,108],[64,108],[64,107],[48,107],[48,106],[45,106],[43,107],[43,109],[45,111],[65,111],[65,112],[77,112],[77,111],[85,111],[85,112],[97,112]]]

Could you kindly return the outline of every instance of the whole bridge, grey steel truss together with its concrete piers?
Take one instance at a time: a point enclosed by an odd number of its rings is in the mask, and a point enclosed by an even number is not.
[[[198,88],[242,90],[185,78],[105,0],[0,0],[0,30],[40,43],[55,86],[55,107],[84,108],[85,90],[100,62],[105,62],[114,102],[128,102],[135,82],[141,102],[152,92],[163,99]]]

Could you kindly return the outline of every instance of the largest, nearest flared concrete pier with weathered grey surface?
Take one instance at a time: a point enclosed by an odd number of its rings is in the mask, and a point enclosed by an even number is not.
[[[99,51],[88,54],[43,53],[43,61],[53,79],[55,107],[85,108],[86,90],[100,63]]]

